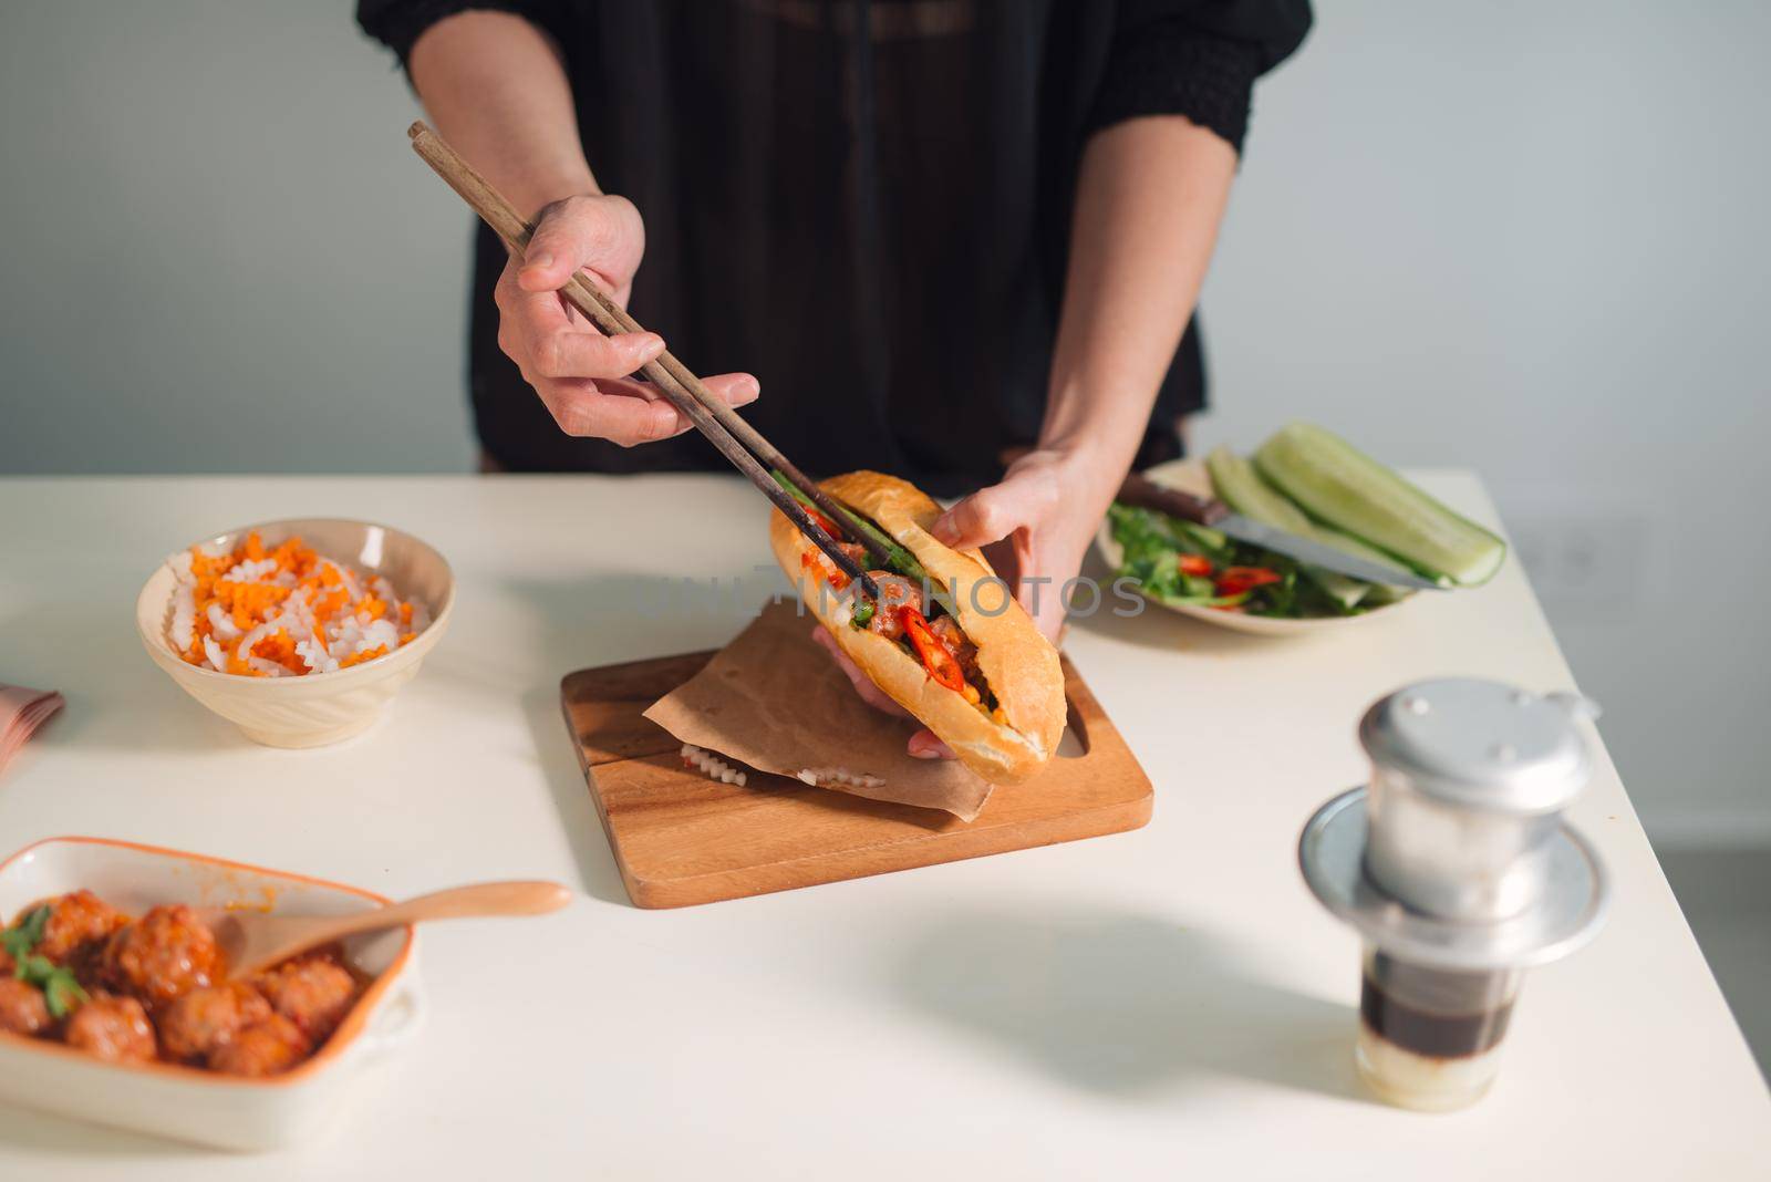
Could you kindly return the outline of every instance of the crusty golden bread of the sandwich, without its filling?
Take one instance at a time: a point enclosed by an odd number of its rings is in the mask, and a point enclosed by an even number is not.
[[[928,676],[923,662],[877,632],[852,626],[852,603],[820,595],[818,577],[829,559],[783,513],[769,520],[769,543],[788,580],[845,653],[894,702],[909,710],[960,761],[994,784],[1018,784],[1052,757],[1064,733],[1064,674],[1052,648],[1006,584],[978,550],[951,550],[928,533],[940,506],[916,485],[880,472],[848,472],[824,481],[824,490],[870,517],[898,540],[953,596],[960,628],[978,646],[978,667],[995,694],[986,715]],[[806,554],[816,556],[811,564]]]

